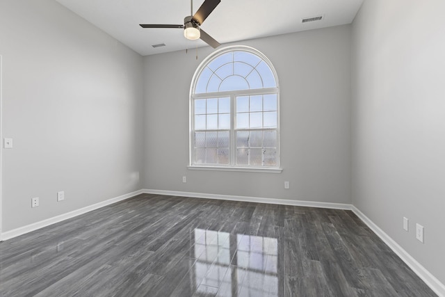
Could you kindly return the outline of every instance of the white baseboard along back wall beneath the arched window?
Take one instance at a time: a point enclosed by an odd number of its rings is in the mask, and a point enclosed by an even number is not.
[[[257,203],[268,203],[268,204],[282,204],[282,205],[292,205],[298,207],[319,207],[328,209],[347,209],[347,210],[352,209],[352,204],[331,203],[331,202],[314,202],[314,201],[302,201],[302,200],[204,194],[204,193],[191,193],[191,192],[179,192],[179,191],[151,190],[151,189],[143,189],[142,191],[144,194],[170,195],[170,196],[180,196],[180,197],[207,198],[207,199],[243,201],[243,202],[257,202]]]

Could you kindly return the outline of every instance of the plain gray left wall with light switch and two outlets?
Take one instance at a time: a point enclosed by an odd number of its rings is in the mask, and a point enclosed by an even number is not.
[[[0,1],[0,55],[3,232],[142,187],[141,56],[51,0]]]

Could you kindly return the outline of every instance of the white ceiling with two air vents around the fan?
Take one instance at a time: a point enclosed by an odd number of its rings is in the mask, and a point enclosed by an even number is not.
[[[184,24],[189,0],[56,0],[139,54],[207,46],[186,40],[182,29],[143,29],[139,24]],[[221,0],[202,29],[221,44],[320,29],[353,22],[364,0]],[[193,13],[204,0],[193,1]],[[302,24],[301,19],[323,15]],[[165,47],[152,45],[165,43]]]

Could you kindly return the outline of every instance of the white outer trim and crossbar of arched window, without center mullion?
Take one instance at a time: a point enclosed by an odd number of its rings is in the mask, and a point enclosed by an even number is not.
[[[196,88],[196,84],[198,79],[200,78],[200,74],[204,70],[204,68],[209,65],[211,61],[213,61],[214,58],[217,58],[220,55],[223,55],[230,51],[247,51],[251,54],[254,54],[256,56],[259,56],[259,58],[263,59],[264,62],[268,65],[270,70],[273,73],[273,76],[275,78],[276,87],[274,88],[259,88],[259,89],[246,89],[246,90],[229,90],[229,91],[223,91],[223,92],[213,92],[213,93],[194,93],[194,90]],[[193,164],[193,150],[192,150],[192,140],[193,140],[193,100],[194,99],[200,99],[200,98],[209,98],[209,97],[232,97],[234,95],[236,96],[242,96],[242,95],[264,95],[264,94],[277,94],[277,167],[250,167],[250,166],[236,166],[236,165],[229,165],[229,166],[221,166],[220,164]],[[233,109],[233,106],[231,106],[231,109]],[[233,117],[233,111],[231,112],[231,117]],[[215,171],[241,171],[241,172],[274,172],[274,173],[280,173],[282,172],[281,168],[281,155],[280,155],[280,82],[278,80],[277,72],[275,70],[275,67],[273,67],[273,64],[270,62],[269,58],[265,56],[261,51],[258,49],[254,49],[254,47],[248,47],[245,45],[232,45],[229,47],[224,47],[223,49],[219,49],[217,51],[213,51],[209,56],[204,58],[204,60],[198,65],[195,72],[193,73],[192,83],[190,87],[190,91],[188,94],[188,166],[187,168],[190,170],[215,170]],[[231,150],[231,154],[233,154]]]

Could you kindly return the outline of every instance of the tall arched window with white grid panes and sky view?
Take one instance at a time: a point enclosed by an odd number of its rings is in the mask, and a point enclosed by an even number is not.
[[[277,74],[251,47],[207,57],[191,85],[190,168],[280,167]]]

